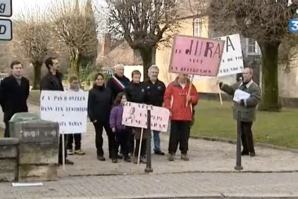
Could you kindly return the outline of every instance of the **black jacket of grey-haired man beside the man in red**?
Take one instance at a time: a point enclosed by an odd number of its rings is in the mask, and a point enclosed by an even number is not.
[[[157,80],[153,84],[149,79],[144,81],[147,93],[147,102],[148,104],[154,106],[162,106],[163,95],[165,92],[165,85],[163,82]]]

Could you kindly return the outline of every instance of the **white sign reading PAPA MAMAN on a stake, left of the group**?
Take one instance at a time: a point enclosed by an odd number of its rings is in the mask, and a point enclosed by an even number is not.
[[[41,118],[58,122],[60,133],[86,132],[87,105],[87,92],[42,91],[40,95]]]

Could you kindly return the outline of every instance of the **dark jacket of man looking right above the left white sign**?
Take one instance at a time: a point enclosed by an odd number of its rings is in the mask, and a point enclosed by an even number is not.
[[[50,72],[45,75],[40,84],[40,90],[46,91],[64,91],[62,85],[63,75],[57,72],[56,76],[52,75]]]

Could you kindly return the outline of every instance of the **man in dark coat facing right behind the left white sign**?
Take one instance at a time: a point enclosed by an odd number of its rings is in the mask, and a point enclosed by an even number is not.
[[[40,84],[40,90],[41,91],[64,91],[63,85],[62,85],[62,79],[63,75],[60,73],[59,70],[59,61],[56,57],[49,57],[45,61],[45,65],[49,71],[47,75],[45,75]],[[64,135],[64,140],[67,139],[67,135]],[[63,162],[63,154],[62,150],[65,151],[65,164],[73,165],[74,162],[66,159],[67,157],[67,150],[66,147],[62,149],[62,135],[60,135],[60,141],[59,141],[59,156],[58,156],[58,162],[59,164],[62,164]],[[65,144],[66,146],[67,144]]]

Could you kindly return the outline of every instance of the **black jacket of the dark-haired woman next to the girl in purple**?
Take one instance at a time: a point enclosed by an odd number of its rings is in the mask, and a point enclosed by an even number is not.
[[[104,86],[93,86],[88,96],[88,115],[93,122],[109,122],[113,105],[112,91]]]

